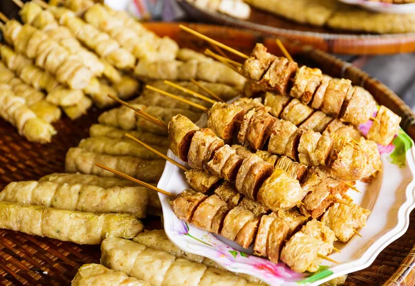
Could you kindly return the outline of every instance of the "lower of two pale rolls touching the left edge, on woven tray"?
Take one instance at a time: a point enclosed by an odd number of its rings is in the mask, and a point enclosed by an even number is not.
[[[143,229],[140,220],[129,214],[82,213],[11,202],[0,202],[0,218],[2,229],[80,245],[99,245],[107,235],[133,238]]]

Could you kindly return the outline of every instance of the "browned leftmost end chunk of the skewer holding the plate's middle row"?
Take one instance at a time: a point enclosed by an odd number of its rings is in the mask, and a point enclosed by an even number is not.
[[[170,150],[184,162],[187,162],[187,154],[196,131],[199,131],[199,127],[183,115],[176,115],[169,122]]]

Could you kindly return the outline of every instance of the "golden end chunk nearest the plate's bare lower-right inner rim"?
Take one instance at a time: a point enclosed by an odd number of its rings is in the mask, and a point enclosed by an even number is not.
[[[349,242],[355,234],[354,231],[365,226],[369,214],[370,211],[353,202],[340,200],[324,213],[321,221],[334,231],[338,240]]]

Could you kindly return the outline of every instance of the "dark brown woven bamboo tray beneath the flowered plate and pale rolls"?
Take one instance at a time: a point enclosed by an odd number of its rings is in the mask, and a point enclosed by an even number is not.
[[[199,51],[208,47],[204,41],[181,31],[176,23],[149,23],[146,26],[158,35],[172,37],[182,47]],[[271,53],[280,54],[274,41],[254,32],[196,24],[190,27],[243,53],[248,54],[255,43],[262,41]],[[324,52],[284,44],[301,63],[319,66],[329,75],[349,77],[353,84],[365,86],[378,102],[403,117],[403,128],[415,138],[414,114],[380,82]],[[12,181],[37,180],[42,175],[64,171],[66,151],[88,136],[89,126],[97,122],[101,112],[93,109],[75,122],[63,118],[55,124],[58,134],[46,145],[27,142],[15,128],[0,120],[0,189]],[[146,218],[144,223],[148,229],[161,227],[160,218]],[[407,233],[382,251],[370,267],[350,274],[347,285],[380,285],[386,281],[386,285],[414,285],[414,243],[413,212]],[[69,285],[77,268],[84,263],[99,263],[99,260],[98,246],[75,245],[0,230],[0,285]]]

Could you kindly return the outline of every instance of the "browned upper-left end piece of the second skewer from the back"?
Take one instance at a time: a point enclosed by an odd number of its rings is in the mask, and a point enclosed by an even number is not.
[[[216,102],[209,111],[208,127],[223,140],[230,140],[237,128],[237,120],[243,118],[243,108],[233,104]]]

